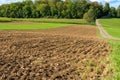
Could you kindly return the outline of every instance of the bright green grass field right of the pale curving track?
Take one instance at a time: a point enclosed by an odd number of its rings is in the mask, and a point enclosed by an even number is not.
[[[100,19],[100,23],[110,35],[120,38],[120,19]]]

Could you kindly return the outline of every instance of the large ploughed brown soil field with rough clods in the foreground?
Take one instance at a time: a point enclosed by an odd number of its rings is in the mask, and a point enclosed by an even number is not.
[[[108,44],[95,27],[0,31],[2,80],[100,80],[109,74]]]

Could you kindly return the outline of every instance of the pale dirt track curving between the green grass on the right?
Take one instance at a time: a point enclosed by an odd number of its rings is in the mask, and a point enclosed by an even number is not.
[[[120,38],[116,38],[111,36],[110,34],[108,34],[102,27],[102,25],[99,23],[99,19],[96,20],[96,25],[98,27],[98,29],[100,30],[100,34],[104,37],[104,38],[108,38],[108,39],[112,39],[112,40],[120,40]]]

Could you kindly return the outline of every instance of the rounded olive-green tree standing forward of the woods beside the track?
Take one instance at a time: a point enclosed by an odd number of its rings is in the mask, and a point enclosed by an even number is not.
[[[96,16],[95,16],[94,9],[92,8],[89,9],[89,11],[84,14],[83,18],[90,23],[95,22]]]

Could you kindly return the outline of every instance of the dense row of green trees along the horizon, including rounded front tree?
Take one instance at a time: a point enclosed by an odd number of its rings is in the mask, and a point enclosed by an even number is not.
[[[24,0],[0,6],[0,17],[9,18],[84,18],[95,21],[103,16],[120,17],[120,6],[116,9],[89,0]]]

